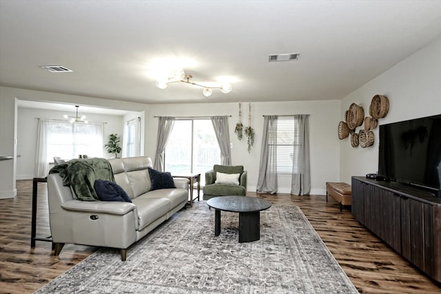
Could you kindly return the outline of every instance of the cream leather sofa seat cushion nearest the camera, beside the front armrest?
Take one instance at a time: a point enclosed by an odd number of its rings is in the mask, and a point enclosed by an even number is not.
[[[137,197],[132,202],[138,211],[139,231],[172,209],[170,200],[165,198]]]

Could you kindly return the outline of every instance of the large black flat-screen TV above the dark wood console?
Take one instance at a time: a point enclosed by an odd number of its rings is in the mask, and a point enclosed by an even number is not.
[[[440,189],[441,114],[380,125],[378,174]]]

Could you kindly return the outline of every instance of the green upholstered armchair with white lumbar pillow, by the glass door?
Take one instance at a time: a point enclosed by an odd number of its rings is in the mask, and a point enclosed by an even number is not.
[[[239,174],[239,185],[216,183],[216,173]],[[203,199],[217,196],[246,196],[247,195],[247,171],[243,165],[214,165],[213,169],[205,173],[205,187]]]

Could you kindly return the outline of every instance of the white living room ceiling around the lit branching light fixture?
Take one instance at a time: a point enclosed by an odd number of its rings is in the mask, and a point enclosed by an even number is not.
[[[0,85],[141,103],[340,99],[440,35],[439,0],[0,0]],[[233,91],[158,89],[158,59]]]

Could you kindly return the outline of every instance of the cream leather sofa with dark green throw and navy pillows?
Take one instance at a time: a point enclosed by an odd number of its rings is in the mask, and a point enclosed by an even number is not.
[[[125,261],[127,248],[158,224],[185,207],[187,179],[174,179],[176,189],[150,191],[148,157],[109,160],[115,181],[132,199],[130,202],[77,200],[70,187],[63,186],[59,174],[48,175],[50,231],[59,255],[65,243],[121,249]]]

